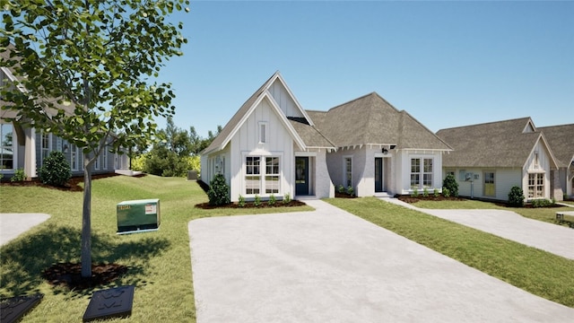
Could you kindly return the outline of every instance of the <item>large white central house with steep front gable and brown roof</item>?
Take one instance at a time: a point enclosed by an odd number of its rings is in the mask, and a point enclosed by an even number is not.
[[[201,153],[201,176],[221,173],[231,201],[274,196],[431,192],[451,151],[405,111],[370,93],[326,112],[302,109],[278,72]]]

